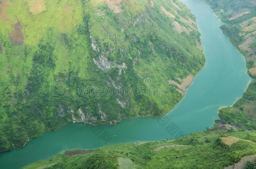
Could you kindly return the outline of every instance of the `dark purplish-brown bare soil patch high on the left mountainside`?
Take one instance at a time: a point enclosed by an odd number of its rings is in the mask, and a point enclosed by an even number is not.
[[[9,38],[13,45],[22,45],[24,43],[24,36],[22,34],[22,25],[18,21],[16,24],[12,24],[12,32],[9,33]]]

